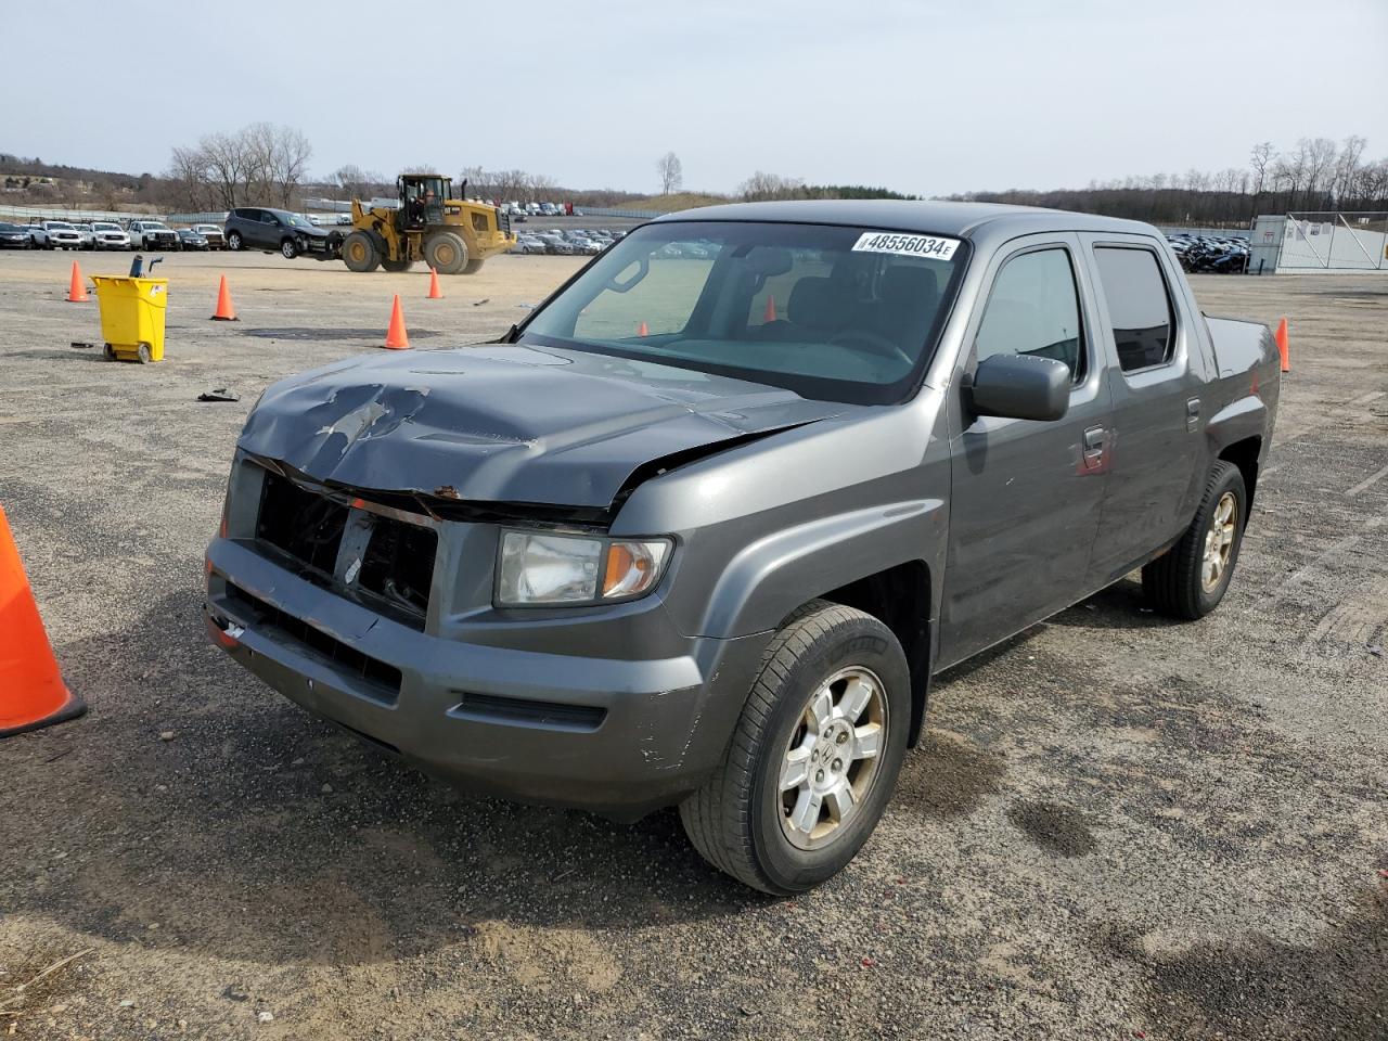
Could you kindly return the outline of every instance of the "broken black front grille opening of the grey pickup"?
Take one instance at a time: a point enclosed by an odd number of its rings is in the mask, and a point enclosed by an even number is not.
[[[382,516],[266,471],[255,539],[315,586],[423,629],[439,551],[432,527]]]

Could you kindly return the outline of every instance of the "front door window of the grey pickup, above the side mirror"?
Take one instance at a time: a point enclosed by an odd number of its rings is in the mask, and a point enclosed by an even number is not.
[[[994,354],[1033,354],[1070,366],[1084,379],[1080,296],[1070,254],[1060,247],[1035,250],[1002,265],[974,337],[979,361]]]

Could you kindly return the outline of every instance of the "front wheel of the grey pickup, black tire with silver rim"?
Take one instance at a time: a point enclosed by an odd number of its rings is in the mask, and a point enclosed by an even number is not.
[[[856,716],[852,709],[834,715],[856,682],[876,693]],[[813,712],[824,691],[833,712]],[[813,719],[827,720],[818,738]],[[858,748],[859,740],[870,740],[865,729],[872,726],[876,755],[837,752],[848,741]],[[897,637],[862,611],[812,601],[791,615],[762,655],[723,761],[680,804],[684,831],[705,861],[752,888],[776,895],[811,890],[843,870],[877,826],[906,754],[909,726],[911,672]],[[783,788],[781,779],[801,765],[801,781]],[[841,798],[824,794],[813,801],[816,791],[824,793],[816,781],[836,780],[855,794],[852,816],[841,822]],[[808,829],[793,823],[802,809],[813,813],[804,818]]]

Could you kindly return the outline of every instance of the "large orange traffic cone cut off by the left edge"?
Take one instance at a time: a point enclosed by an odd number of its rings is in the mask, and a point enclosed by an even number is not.
[[[0,507],[0,737],[86,712],[62,683],[53,645]]]

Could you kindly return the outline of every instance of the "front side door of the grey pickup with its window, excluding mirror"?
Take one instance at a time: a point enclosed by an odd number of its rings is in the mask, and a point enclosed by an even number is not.
[[[1070,366],[1062,419],[973,416],[960,390],[951,436],[940,665],[948,666],[1088,593],[1099,527],[1109,397],[1094,298],[1073,235],[1029,236],[990,262],[952,384],[979,361],[1031,354]]]

